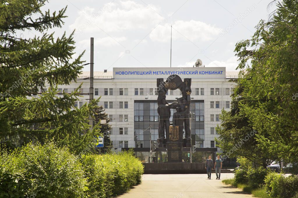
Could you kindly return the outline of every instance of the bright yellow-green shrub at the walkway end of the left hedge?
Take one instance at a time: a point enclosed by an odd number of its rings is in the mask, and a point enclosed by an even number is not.
[[[144,168],[131,152],[82,156],[89,197],[114,197],[141,183]]]

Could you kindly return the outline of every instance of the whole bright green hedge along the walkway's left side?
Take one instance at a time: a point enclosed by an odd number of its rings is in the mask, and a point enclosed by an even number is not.
[[[0,156],[0,197],[103,197],[141,182],[143,166],[130,152],[79,158],[54,143],[27,144]]]

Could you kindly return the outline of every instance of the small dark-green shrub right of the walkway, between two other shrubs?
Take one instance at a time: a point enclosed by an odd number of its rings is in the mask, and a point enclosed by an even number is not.
[[[247,169],[247,174],[246,174],[249,186],[251,186],[252,188],[257,188],[260,185],[265,184],[264,180],[266,175],[269,172],[271,172],[270,169],[265,169],[263,167],[259,167],[259,168],[249,167]]]

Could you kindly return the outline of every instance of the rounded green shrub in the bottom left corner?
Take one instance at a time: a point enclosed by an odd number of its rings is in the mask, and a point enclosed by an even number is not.
[[[21,181],[25,197],[84,197],[86,179],[75,155],[53,143],[27,144],[4,156],[7,180]],[[3,171],[2,171],[3,172]],[[15,185],[15,191],[18,191]]]

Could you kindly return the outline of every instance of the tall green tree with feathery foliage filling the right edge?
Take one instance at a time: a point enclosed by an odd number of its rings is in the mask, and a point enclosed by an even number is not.
[[[236,44],[241,72],[233,99],[239,99],[239,114],[257,131],[258,149],[297,162],[298,1],[276,3],[252,39]]]

